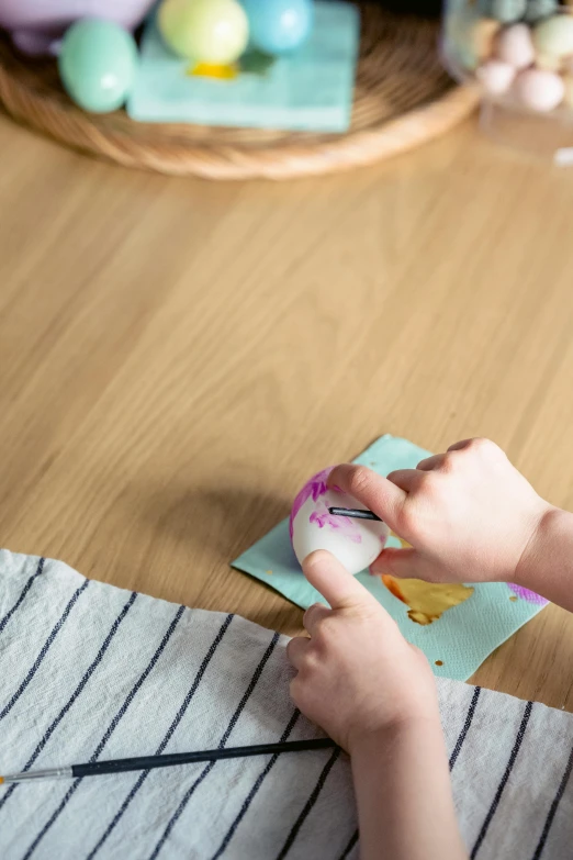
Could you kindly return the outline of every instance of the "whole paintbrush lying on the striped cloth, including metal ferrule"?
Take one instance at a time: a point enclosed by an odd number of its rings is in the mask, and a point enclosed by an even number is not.
[[[193,764],[201,761],[220,761],[221,759],[238,759],[250,756],[272,756],[279,752],[304,752],[306,750],[329,749],[332,747],[336,747],[336,744],[330,738],[314,738],[312,740],[288,740],[279,744],[258,744],[252,747],[211,749],[202,752],[175,752],[168,756],[139,756],[133,759],[90,761],[87,764],[71,764],[67,768],[49,768],[47,770],[12,773],[8,777],[0,777],[0,785],[35,780],[72,780],[81,777],[100,777],[103,773],[125,773],[132,770],[172,768],[177,764]]]

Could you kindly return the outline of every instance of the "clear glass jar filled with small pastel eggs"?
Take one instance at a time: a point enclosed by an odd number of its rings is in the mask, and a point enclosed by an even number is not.
[[[488,132],[573,164],[573,0],[447,0],[442,54]]]

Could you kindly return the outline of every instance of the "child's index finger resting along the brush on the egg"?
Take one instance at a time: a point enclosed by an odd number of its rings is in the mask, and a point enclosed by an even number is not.
[[[406,499],[404,490],[364,466],[337,466],[328,477],[328,484],[352,495],[391,528]]]

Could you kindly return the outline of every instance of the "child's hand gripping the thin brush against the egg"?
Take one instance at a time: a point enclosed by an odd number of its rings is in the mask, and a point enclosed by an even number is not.
[[[374,511],[412,549],[384,549],[374,573],[429,582],[519,581],[553,509],[488,439],[469,439],[387,478],[339,466],[329,483]]]

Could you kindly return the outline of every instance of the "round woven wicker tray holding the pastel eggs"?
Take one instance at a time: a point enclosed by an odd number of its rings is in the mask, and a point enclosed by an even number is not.
[[[83,113],[54,60],[31,60],[0,34],[0,101],[19,122],[91,155],[210,179],[296,176],[372,164],[437,137],[476,105],[441,68],[438,24],[360,4],[362,36],[352,122],[345,134],[136,123],[124,111]]]

